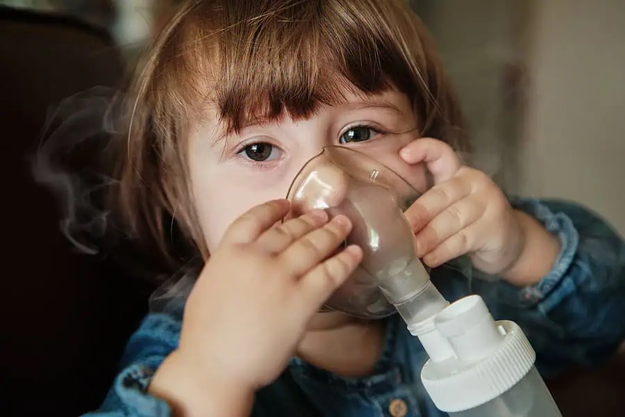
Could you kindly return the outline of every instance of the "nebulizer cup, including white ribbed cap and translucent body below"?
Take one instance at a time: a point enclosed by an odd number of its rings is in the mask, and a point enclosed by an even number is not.
[[[450,304],[435,317],[453,357],[428,360],[421,380],[450,417],[562,417],[535,368],[536,354],[519,325],[494,320],[479,295]]]

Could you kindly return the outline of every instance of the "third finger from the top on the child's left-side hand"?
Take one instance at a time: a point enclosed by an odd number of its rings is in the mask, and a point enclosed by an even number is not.
[[[292,243],[280,254],[280,261],[294,277],[301,277],[337,250],[350,231],[349,219],[337,215]]]

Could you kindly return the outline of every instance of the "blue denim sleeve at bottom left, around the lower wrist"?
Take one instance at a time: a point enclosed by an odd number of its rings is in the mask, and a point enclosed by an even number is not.
[[[85,416],[170,416],[167,403],[149,395],[147,388],[160,363],[176,349],[180,329],[180,320],[169,314],[150,313],[146,316],[126,345],[122,371],[100,409]]]

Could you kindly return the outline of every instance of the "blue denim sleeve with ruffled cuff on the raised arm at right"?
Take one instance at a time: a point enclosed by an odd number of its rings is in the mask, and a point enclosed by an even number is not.
[[[597,366],[625,340],[625,244],[598,215],[572,202],[511,199],[560,240],[553,269],[534,286],[474,279],[495,318],[516,321],[544,377]]]

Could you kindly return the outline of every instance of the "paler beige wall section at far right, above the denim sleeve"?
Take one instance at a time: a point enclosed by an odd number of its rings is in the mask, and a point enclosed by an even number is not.
[[[529,29],[521,190],[625,233],[625,1],[535,0]]]

